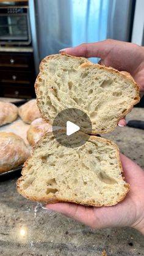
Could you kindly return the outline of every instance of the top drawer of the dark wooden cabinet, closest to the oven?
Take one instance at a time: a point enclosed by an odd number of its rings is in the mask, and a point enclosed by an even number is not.
[[[34,70],[32,53],[0,53],[0,69],[9,67]]]

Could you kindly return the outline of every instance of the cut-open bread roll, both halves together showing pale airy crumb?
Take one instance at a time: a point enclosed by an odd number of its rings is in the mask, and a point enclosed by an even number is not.
[[[52,124],[60,111],[78,108],[90,117],[92,134],[113,130],[140,99],[128,73],[63,54],[43,59],[35,90],[42,118]],[[18,192],[44,203],[112,206],[123,200],[129,184],[121,176],[117,145],[96,136],[87,141],[82,132],[77,132],[79,137],[85,144],[68,148],[46,133],[24,164]]]

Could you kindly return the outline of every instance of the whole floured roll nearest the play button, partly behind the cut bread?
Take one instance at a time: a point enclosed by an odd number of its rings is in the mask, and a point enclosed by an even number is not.
[[[52,131],[52,126],[42,118],[37,118],[31,122],[31,126],[27,130],[27,140],[34,145],[48,131]]]

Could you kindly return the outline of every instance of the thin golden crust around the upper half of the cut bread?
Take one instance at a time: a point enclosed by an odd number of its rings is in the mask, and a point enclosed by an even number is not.
[[[117,75],[119,75],[120,77],[122,78],[126,78],[128,81],[130,81],[131,83],[133,83],[134,85],[134,88],[135,88],[135,97],[134,97],[134,101],[133,101],[133,104],[129,105],[129,107],[120,115],[120,117],[117,119],[117,123],[118,121],[120,121],[120,119],[124,118],[124,116],[126,116],[129,112],[131,112],[132,108],[134,107],[135,104],[139,103],[140,101],[140,96],[139,96],[139,86],[137,85],[137,83],[134,81],[134,79],[132,78],[131,74],[128,73],[128,72],[125,72],[125,71],[118,71],[117,69],[113,69],[112,67],[106,67],[106,66],[102,66],[102,65],[99,65],[99,64],[93,64],[92,62],[88,61],[86,58],[84,57],[77,57],[77,56],[71,56],[71,55],[67,55],[66,53],[60,53],[58,55],[50,55],[50,56],[46,56],[40,63],[40,73],[38,74],[38,77],[36,78],[35,80],[35,92],[37,94],[37,105],[38,105],[38,108],[40,110],[40,113],[41,113],[41,116],[43,119],[45,119],[45,121],[49,122],[49,124],[52,125],[52,122],[53,120],[51,119],[48,119],[47,116],[45,116],[45,114],[43,113],[43,111],[41,110],[40,108],[40,103],[39,103],[39,98],[40,98],[40,90],[39,90],[39,86],[38,86],[38,82],[40,81],[41,79],[41,72],[43,72],[43,66],[45,65],[45,62],[48,61],[48,59],[52,59],[52,58],[58,58],[60,55],[63,55],[63,56],[67,56],[69,58],[73,58],[73,59],[84,59],[85,60],[85,63],[83,63],[81,65],[82,68],[85,68],[85,67],[98,67],[99,69],[103,69],[103,70],[107,70],[111,73],[117,73]],[[117,127],[117,124],[115,124],[114,127],[110,127],[109,129],[106,129],[106,130],[92,130],[92,134],[95,135],[95,134],[107,134],[107,132],[111,132],[112,130],[115,129],[115,127]]]

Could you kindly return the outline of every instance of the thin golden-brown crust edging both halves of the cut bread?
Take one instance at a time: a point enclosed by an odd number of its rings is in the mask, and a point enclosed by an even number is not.
[[[62,54],[62,55],[65,55],[67,57],[70,57],[70,55],[66,55],[66,54]],[[43,71],[43,64],[45,62],[47,62],[48,59],[51,59],[51,58],[57,58],[57,56],[59,55],[51,55],[51,56],[47,56],[45,59],[43,59],[41,61],[41,64],[40,64],[40,73]],[[82,58],[82,57],[75,57],[75,56],[72,56],[73,58],[81,58],[81,59],[85,59],[85,58]],[[113,69],[112,67],[104,67],[104,66],[101,66],[99,64],[92,64],[91,62],[89,62],[87,59],[85,59],[85,63],[81,65],[81,67],[85,68],[85,67],[98,67],[99,69],[104,69],[104,70],[108,70],[109,72],[115,72],[117,73],[117,75],[120,75],[121,77],[124,77],[126,78],[127,80],[129,80],[131,83],[133,83],[134,85],[134,88],[135,88],[135,97],[134,97],[134,101],[133,101],[133,104],[129,105],[129,107],[127,108],[126,111],[124,111],[123,115],[120,116],[120,118],[118,118],[118,121],[123,118],[127,113],[129,113],[132,109],[132,107],[137,104],[140,100],[140,97],[139,97],[139,86],[135,83],[134,79],[131,77],[131,75],[127,72],[119,72],[118,70],[115,70]],[[35,81],[35,91],[36,91],[36,94],[37,94],[37,105],[39,107],[39,102],[38,102],[38,99],[40,97],[40,91],[39,91],[39,88],[38,88],[38,83],[39,81],[41,80],[41,77],[40,77],[40,73],[38,74],[38,77]],[[39,107],[40,109],[40,107]],[[48,121],[50,124],[52,124],[52,120],[49,120],[46,116],[43,115],[43,111],[40,109],[40,113],[41,113],[41,116],[43,117],[43,119],[45,119],[46,121]],[[106,132],[110,132],[111,130],[113,130],[113,128],[111,129],[107,129]],[[97,131],[93,131],[93,134],[95,134]],[[101,131],[101,133],[104,133],[103,131]],[[52,133],[49,132],[49,135],[51,135]],[[120,161],[120,155],[119,155],[119,149],[118,149],[118,146],[113,143],[112,141],[110,140],[106,140],[105,138],[99,138],[99,137],[96,137],[96,136],[90,136],[90,141],[92,143],[95,143],[95,141],[105,141],[106,143],[109,143],[110,145],[112,145],[113,147],[116,148],[117,150],[117,162],[118,162],[118,165],[120,167],[120,170],[121,170],[121,173],[123,172],[123,169],[122,169],[122,166],[121,166],[121,161]],[[43,139],[45,138],[45,136],[47,136],[47,134],[44,135],[44,137],[42,137],[40,139],[40,141],[38,141],[38,143],[34,146],[33,148],[33,151],[32,151],[32,155],[31,157],[33,156],[34,154],[34,149],[37,148],[40,143],[43,141]],[[31,157],[29,157],[29,159],[31,159]],[[41,201],[43,203],[57,203],[57,202],[71,202],[71,203],[78,203],[78,204],[81,204],[81,205],[85,205],[85,201],[76,201],[76,200],[66,200],[65,198],[59,198],[57,197],[56,195],[46,195],[46,197],[34,197],[34,196],[27,196],[23,190],[23,188],[21,188],[21,182],[23,181],[24,179],[24,175],[26,174],[25,171],[26,171],[26,168],[27,168],[27,165],[28,165],[28,161],[29,159],[27,159],[27,161],[24,163],[24,167],[23,167],[23,170],[22,170],[22,175],[21,178],[18,179],[17,183],[16,183],[16,186],[17,186],[17,190],[18,192],[23,195],[24,197],[30,199],[30,200],[33,200],[33,201]],[[124,179],[124,177],[123,177]],[[128,193],[129,189],[130,189],[130,186],[128,183],[124,184],[124,187],[125,187],[125,192],[123,193],[123,195],[121,196],[121,198],[118,198],[118,201],[115,201],[114,203],[107,203],[105,205],[100,205],[100,204],[96,204],[96,203],[93,203],[93,201],[87,201],[87,205],[91,205],[91,206],[112,206],[112,205],[115,205],[117,204],[118,202],[122,201],[124,199],[124,197],[126,196],[126,194]]]

